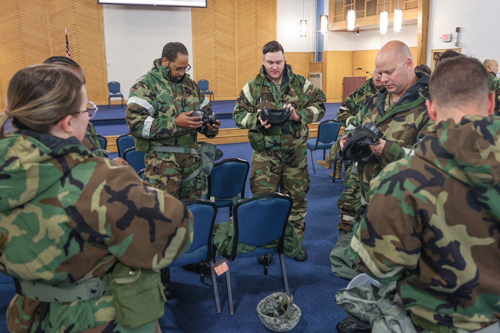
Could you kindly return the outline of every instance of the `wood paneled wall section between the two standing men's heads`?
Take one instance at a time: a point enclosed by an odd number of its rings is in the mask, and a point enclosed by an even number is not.
[[[215,99],[236,99],[276,39],[276,0],[210,0],[191,18],[194,77],[208,80]]]

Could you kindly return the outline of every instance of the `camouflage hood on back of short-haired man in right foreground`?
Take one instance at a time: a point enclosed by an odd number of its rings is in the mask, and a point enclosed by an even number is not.
[[[500,182],[500,120],[465,116],[460,123],[441,121],[424,137],[416,155],[469,186]]]

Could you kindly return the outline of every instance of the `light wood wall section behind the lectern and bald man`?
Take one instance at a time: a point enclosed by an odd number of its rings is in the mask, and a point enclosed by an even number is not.
[[[413,56],[413,66],[418,65],[417,47],[409,48]],[[373,72],[378,50],[364,51],[324,51],[323,52],[323,92],[330,103],[339,103],[347,96],[342,96],[342,79],[344,76],[365,76],[361,70]],[[371,75],[367,75],[371,77]]]

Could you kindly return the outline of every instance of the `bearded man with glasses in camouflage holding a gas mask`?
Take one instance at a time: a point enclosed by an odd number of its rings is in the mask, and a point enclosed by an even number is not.
[[[213,138],[220,125],[217,120],[201,126],[201,117],[189,117],[192,111],[209,110],[210,102],[186,74],[188,60],[183,44],[167,43],[161,58],[130,89],[125,117],[135,149],[146,152],[144,180],[178,199],[200,198],[203,178],[198,173],[185,180],[199,168],[198,154],[173,150],[197,149],[197,131]]]

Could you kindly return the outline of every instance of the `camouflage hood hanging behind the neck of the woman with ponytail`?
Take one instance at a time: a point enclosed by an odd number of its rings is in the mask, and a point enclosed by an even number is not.
[[[71,137],[63,140],[49,134],[23,130],[0,140],[0,212],[24,205],[64,176],[63,156],[78,152],[91,156],[83,144]],[[28,181],[26,183],[26,178]],[[8,200],[6,200],[8,199]]]

